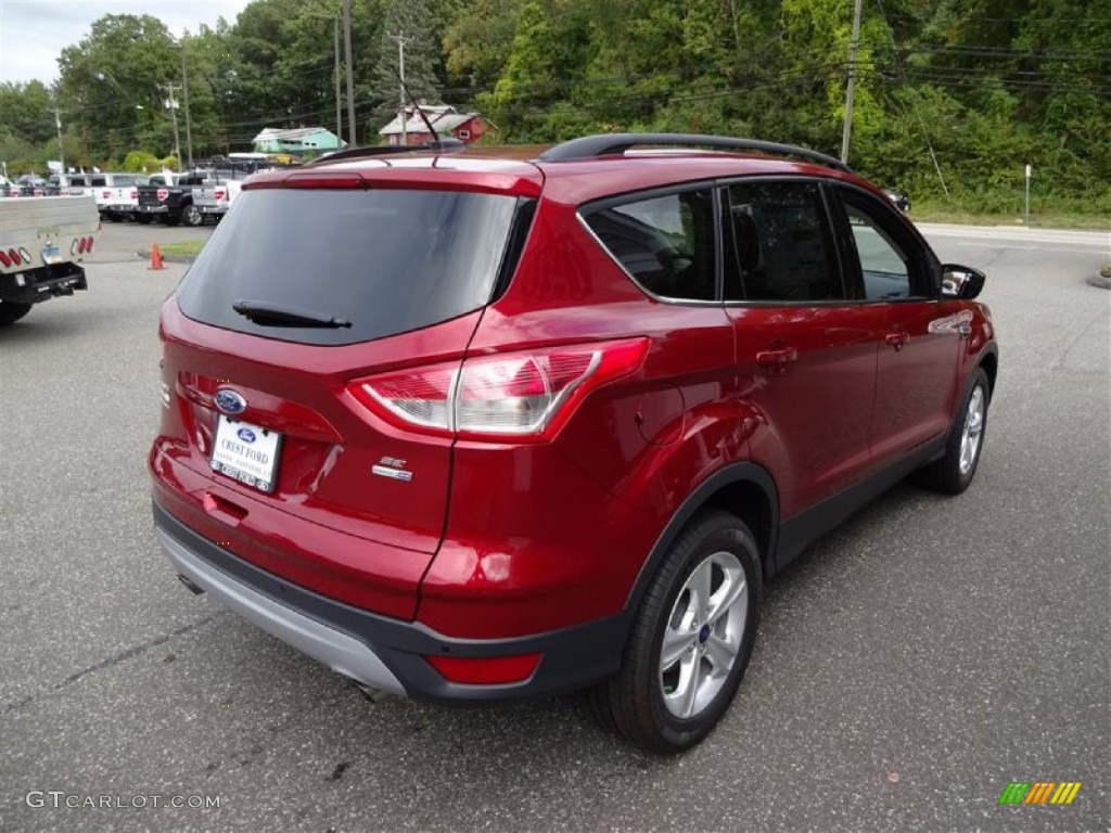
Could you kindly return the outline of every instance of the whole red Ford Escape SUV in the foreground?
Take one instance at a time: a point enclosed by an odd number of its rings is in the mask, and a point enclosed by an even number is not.
[[[975,473],[983,274],[837,160],[384,150],[243,185],[162,308],[150,452],[182,582],[364,690],[589,690],[685,749],[770,576],[901,478]]]

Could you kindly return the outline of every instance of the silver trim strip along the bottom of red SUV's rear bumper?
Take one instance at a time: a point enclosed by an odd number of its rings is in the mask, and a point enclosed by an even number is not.
[[[366,643],[262,595],[198,558],[162,530],[156,529],[154,533],[178,572],[223,606],[343,676],[406,696],[404,688]]]

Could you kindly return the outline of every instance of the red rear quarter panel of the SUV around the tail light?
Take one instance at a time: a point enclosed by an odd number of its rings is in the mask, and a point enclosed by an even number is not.
[[[647,297],[579,223],[538,211],[517,275],[468,354],[643,335],[641,369],[594,391],[538,445],[458,442],[447,534],[418,619],[456,636],[523,635],[620,612],[671,515],[747,456],[733,333],[719,304]]]

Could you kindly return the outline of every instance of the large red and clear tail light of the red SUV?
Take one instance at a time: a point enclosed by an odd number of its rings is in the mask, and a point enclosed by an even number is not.
[[[648,339],[467,359],[360,379],[349,392],[400,428],[473,439],[549,440],[601,385],[640,368]]]

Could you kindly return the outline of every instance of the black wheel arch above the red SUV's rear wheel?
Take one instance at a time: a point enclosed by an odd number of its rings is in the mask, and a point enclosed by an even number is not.
[[[694,514],[707,506],[740,518],[757,539],[764,578],[774,572],[779,533],[779,494],[771,474],[757,463],[739,462],[718,470],[691,492],[652,545],[625,600],[625,612],[637,610],[668,550]]]

